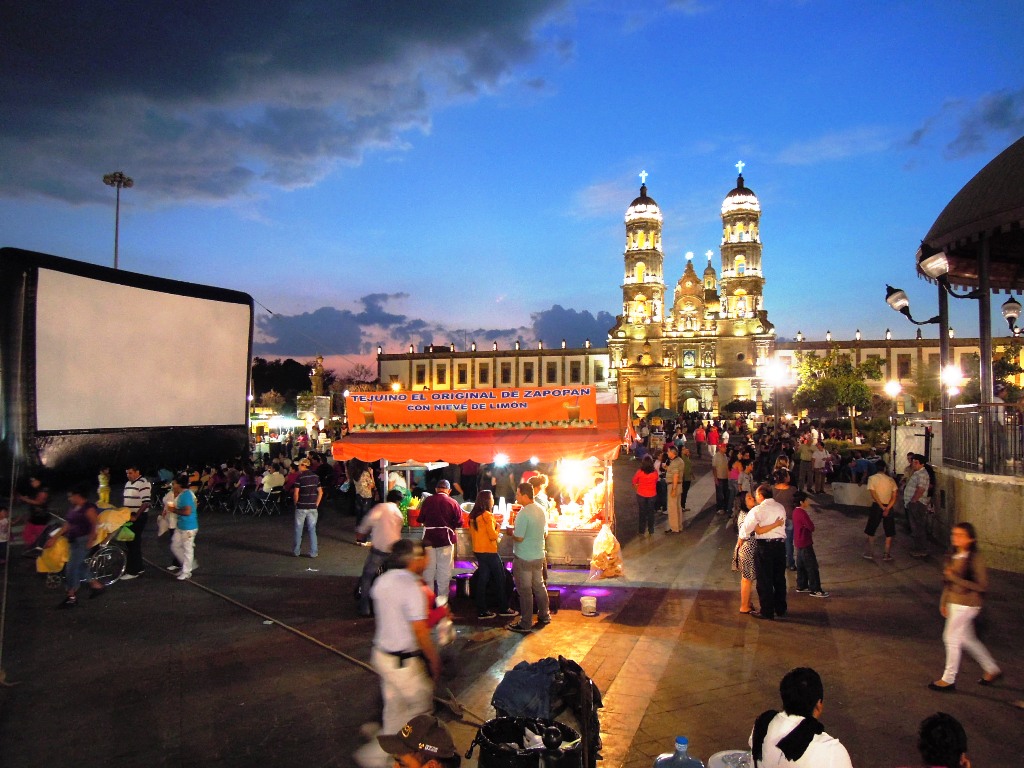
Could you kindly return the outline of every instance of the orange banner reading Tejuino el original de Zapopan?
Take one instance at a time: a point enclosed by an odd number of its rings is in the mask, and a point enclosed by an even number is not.
[[[345,398],[350,432],[593,427],[593,386],[355,392]]]

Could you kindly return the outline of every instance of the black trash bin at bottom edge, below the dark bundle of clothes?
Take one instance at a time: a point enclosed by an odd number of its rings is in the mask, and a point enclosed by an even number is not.
[[[522,748],[526,728],[545,736],[546,746]],[[480,745],[479,768],[583,768],[580,734],[565,723],[535,718],[495,718],[480,726],[466,753]]]

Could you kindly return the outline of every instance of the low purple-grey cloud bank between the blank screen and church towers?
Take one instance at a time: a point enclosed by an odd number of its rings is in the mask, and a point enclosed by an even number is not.
[[[324,354],[366,358],[376,354],[377,344],[388,352],[403,351],[410,344],[419,349],[427,344],[455,343],[461,350],[471,341],[481,346],[497,341],[500,348],[508,349],[517,339],[527,346],[543,341],[546,347],[556,347],[562,339],[569,346],[583,346],[586,339],[594,346],[603,346],[614,323],[608,312],[595,315],[555,304],[534,312],[529,326],[456,329],[389,310],[388,305],[408,298],[404,293],[375,293],[358,300],[358,311],[325,306],[301,314],[258,315],[253,353],[264,357]]]

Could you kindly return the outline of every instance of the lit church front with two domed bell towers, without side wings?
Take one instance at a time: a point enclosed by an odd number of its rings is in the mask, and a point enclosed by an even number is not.
[[[764,305],[761,204],[742,173],[722,203],[721,272],[712,251],[700,274],[687,254],[682,275],[667,281],[662,210],[646,183],[625,224],[623,311],[608,333],[620,401],[643,416],[718,415],[733,400],[760,400],[775,329]]]

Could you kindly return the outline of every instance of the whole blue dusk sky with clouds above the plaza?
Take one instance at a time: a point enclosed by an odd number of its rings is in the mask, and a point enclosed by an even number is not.
[[[910,338],[886,283],[935,313],[919,242],[1024,134],[1019,0],[114,0],[0,20],[0,245],[112,264],[101,179],[123,170],[122,268],[250,293],[257,354],[339,370],[378,343],[603,345],[638,174],[672,285],[687,251],[719,266],[737,161],[778,335]],[[975,302],[951,312],[977,335]]]

